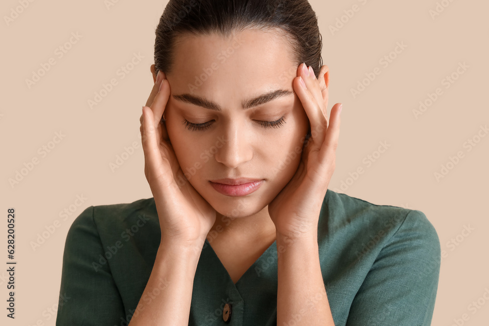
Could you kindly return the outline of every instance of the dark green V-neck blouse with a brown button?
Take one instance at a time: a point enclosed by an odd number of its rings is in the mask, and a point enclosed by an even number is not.
[[[441,248],[421,211],[376,205],[328,189],[317,231],[336,326],[430,325]],[[139,300],[151,300],[141,296],[160,239],[153,197],[85,209],[67,234],[56,325],[129,324]],[[227,323],[225,304],[231,306]],[[276,241],[234,284],[205,240],[188,325],[276,324]]]

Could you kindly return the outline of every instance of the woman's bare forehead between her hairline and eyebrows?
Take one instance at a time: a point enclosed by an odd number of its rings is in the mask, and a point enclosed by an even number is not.
[[[202,74],[249,79],[280,76],[297,67],[290,51],[289,41],[279,32],[250,29],[227,38],[216,33],[189,35],[175,44],[171,70],[190,79]]]

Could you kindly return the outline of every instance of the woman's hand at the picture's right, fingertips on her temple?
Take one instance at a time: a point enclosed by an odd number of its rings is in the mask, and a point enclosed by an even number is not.
[[[328,66],[323,65],[319,79],[316,79],[312,68],[300,64],[293,81],[311,124],[311,137],[304,144],[296,173],[268,204],[268,214],[275,224],[277,237],[317,239],[321,205],[335,167],[341,112],[341,104],[336,103],[328,124],[329,74],[325,76],[326,72]]]

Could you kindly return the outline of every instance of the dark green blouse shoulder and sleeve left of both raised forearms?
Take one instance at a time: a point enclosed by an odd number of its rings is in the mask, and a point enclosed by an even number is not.
[[[65,241],[61,293],[75,299],[59,310],[61,320],[80,322],[95,311],[125,316],[124,306],[135,307],[144,291],[160,239],[154,198],[85,208]],[[76,305],[84,300],[92,305]]]

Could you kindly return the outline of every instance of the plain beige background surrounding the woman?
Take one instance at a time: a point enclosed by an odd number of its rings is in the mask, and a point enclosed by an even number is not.
[[[20,1],[0,5],[0,234],[6,256],[6,212],[14,207],[18,262],[15,321],[5,317],[8,281],[6,267],[0,268],[0,324],[55,325],[64,243],[74,218],[90,205],[152,197],[143,173],[139,117],[153,85],[154,30],[167,1],[113,0],[107,7],[103,0],[24,0],[25,9]],[[479,130],[489,124],[489,2],[438,1],[447,7],[439,7],[443,11],[434,18],[435,0],[310,2],[323,36],[323,61],[330,67],[328,110],[343,103],[329,188],[424,212],[445,250],[432,325],[454,325],[465,313],[464,325],[487,325],[489,136]],[[357,11],[347,19],[344,10],[354,5]],[[6,22],[9,16],[15,19]],[[344,25],[332,32],[342,16]],[[406,47],[392,52],[398,42]],[[56,51],[60,46],[67,52],[63,57]],[[122,78],[117,71],[134,53],[144,58]],[[379,62],[389,55],[387,66]],[[55,65],[29,87],[26,79],[50,58]],[[466,64],[459,69],[463,74],[457,73],[459,63]],[[354,97],[358,81],[374,71],[380,74]],[[458,79],[446,88],[452,73]],[[118,84],[90,109],[88,100],[112,78]],[[413,110],[438,87],[441,95],[416,118]],[[61,141],[56,132],[65,135]],[[468,139],[478,143],[468,147]],[[380,142],[390,147],[377,155]],[[133,144],[133,154],[112,171],[110,164]],[[50,152],[38,152],[50,145]],[[434,174],[459,151],[463,157],[437,180]],[[368,155],[377,157],[370,166]],[[11,186],[9,179],[33,158],[38,164]],[[364,173],[348,179],[359,167]],[[85,197],[78,207],[77,196]],[[65,208],[72,213],[63,219],[59,213]],[[31,242],[53,230],[56,220],[54,232],[34,250]],[[464,226],[473,230],[462,233]],[[1,261],[6,266],[7,259]],[[478,299],[484,304],[475,313],[467,310]]]

